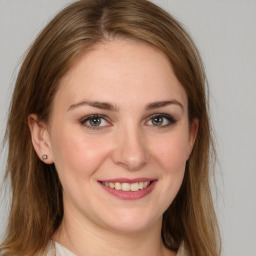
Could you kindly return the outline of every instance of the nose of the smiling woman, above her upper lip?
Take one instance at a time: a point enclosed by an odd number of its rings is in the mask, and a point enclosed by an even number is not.
[[[129,171],[143,168],[149,161],[149,152],[143,134],[131,128],[118,132],[112,158],[115,164]]]

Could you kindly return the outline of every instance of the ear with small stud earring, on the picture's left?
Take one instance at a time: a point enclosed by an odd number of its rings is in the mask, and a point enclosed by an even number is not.
[[[28,117],[28,126],[31,133],[32,143],[38,157],[44,163],[52,164],[53,155],[47,125],[44,122],[39,121],[36,114],[31,114]],[[45,155],[47,157],[43,158]]]

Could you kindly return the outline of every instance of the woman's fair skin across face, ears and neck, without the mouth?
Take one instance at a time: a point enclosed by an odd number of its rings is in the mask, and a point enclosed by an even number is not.
[[[55,241],[76,255],[176,255],[162,243],[161,223],[196,138],[187,104],[167,57],[151,46],[113,40],[80,57],[60,81],[49,124],[29,117],[35,150],[55,164],[63,186]],[[104,116],[94,129],[92,114]],[[137,200],[116,198],[98,182],[141,177],[156,183]]]

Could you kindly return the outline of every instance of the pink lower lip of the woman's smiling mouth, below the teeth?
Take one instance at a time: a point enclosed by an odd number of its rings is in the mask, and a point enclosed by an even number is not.
[[[138,191],[122,191],[122,190],[116,190],[114,188],[107,187],[103,185],[101,182],[99,184],[101,187],[110,193],[111,195],[122,199],[122,200],[138,200],[145,196],[147,196],[155,187],[157,181],[152,181],[149,186],[147,186],[144,189],[138,190]]]

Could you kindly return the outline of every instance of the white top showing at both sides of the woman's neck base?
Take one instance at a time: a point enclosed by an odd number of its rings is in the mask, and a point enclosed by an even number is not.
[[[57,242],[52,242],[49,246],[46,256],[76,256],[76,255],[70,252],[63,245]],[[176,256],[188,256],[188,254],[185,252],[185,248],[183,245],[178,250],[178,253]]]

